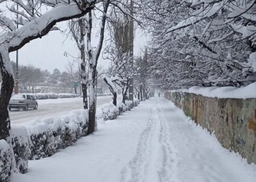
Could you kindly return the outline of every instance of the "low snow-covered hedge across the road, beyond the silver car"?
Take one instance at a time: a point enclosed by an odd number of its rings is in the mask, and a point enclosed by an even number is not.
[[[27,94],[34,96],[36,100],[79,97],[79,94],[72,94],[72,93],[27,93]]]

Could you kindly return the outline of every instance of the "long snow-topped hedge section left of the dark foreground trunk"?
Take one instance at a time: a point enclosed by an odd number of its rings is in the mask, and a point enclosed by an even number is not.
[[[30,134],[29,159],[51,156],[57,149],[71,146],[86,135],[88,110],[74,111],[63,118],[46,118],[34,122],[28,127]]]

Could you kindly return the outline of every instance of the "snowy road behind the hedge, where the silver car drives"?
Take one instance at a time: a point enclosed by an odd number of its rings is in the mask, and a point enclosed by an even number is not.
[[[97,97],[97,107],[112,101],[112,96]],[[82,98],[58,98],[53,100],[38,100],[38,110],[29,109],[23,110],[11,110],[10,118],[11,123],[22,124],[23,122],[32,121],[33,119],[40,119],[46,117],[61,117],[68,114],[70,111],[82,109]],[[101,110],[98,109],[97,114],[100,114]]]

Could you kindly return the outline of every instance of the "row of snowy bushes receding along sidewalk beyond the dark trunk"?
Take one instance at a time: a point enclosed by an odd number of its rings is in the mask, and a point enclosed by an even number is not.
[[[135,99],[133,101],[125,101],[125,104],[123,102],[118,102],[117,106],[114,106],[112,103],[105,104],[102,109],[102,117],[104,121],[108,119],[115,119],[118,115],[121,113],[124,113],[127,110],[131,110],[133,107],[138,106],[139,100]]]

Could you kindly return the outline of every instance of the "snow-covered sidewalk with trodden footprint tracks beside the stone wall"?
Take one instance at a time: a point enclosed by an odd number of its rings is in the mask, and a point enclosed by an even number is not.
[[[163,98],[142,102],[11,182],[253,182],[256,167],[225,150]]]

